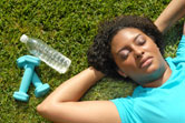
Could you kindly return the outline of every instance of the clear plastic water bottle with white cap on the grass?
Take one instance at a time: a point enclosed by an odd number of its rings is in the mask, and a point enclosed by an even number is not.
[[[39,58],[59,73],[65,73],[68,70],[71,63],[70,59],[47,45],[41,40],[22,34],[20,41],[27,44],[27,48],[31,54]]]

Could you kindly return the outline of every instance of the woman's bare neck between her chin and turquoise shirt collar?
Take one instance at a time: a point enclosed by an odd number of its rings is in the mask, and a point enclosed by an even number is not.
[[[158,88],[158,86],[163,85],[168,80],[171,74],[172,74],[172,70],[167,65],[166,71],[163,73],[163,75],[159,79],[157,79],[157,80],[155,80],[155,81],[153,81],[150,83],[147,83],[147,84],[145,84],[143,86],[144,88]]]

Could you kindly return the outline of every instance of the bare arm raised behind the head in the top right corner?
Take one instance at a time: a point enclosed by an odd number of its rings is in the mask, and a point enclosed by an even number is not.
[[[185,16],[185,0],[172,0],[155,21],[159,31],[164,32]]]

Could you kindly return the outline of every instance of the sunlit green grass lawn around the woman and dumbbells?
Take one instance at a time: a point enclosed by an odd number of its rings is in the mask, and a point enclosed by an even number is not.
[[[120,14],[147,16],[155,20],[169,0],[0,0],[0,123],[49,123],[36,112],[45,99],[37,99],[30,85],[28,103],[14,101],[23,70],[17,66],[19,57],[29,54],[19,41],[22,33],[39,38],[72,63],[66,74],[59,74],[43,62],[37,68],[51,91],[65,80],[88,66],[86,52],[97,33],[98,23]],[[165,35],[165,57],[175,55],[183,21]],[[132,94],[134,84],[103,79],[81,100],[109,100]]]

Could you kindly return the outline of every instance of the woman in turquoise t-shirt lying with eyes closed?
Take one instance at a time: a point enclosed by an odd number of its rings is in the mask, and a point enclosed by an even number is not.
[[[185,123],[185,35],[174,59],[163,58],[162,38],[184,14],[185,1],[173,0],[155,24],[137,16],[107,21],[89,49],[90,66],[64,82],[37,111],[59,123]],[[105,75],[139,85],[132,96],[78,102]]]

